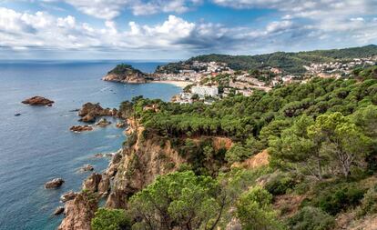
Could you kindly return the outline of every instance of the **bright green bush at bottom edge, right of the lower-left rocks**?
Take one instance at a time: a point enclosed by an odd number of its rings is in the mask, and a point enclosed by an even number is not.
[[[92,219],[92,230],[130,229],[130,220],[122,209],[99,208]]]

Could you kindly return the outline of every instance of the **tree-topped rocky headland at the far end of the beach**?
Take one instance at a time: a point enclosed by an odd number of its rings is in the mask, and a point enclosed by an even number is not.
[[[102,78],[104,81],[140,84],[147,82],[147,75],[131,65],[120,64]]]

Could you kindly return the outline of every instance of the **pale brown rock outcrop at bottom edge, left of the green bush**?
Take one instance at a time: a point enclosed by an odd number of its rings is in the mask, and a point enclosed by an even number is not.
[[[59,230],[90,230],[90,222],[98,208],[98,197],[90,192],[76,195],[67,201],[64,214],[66,217],[59,225]]]

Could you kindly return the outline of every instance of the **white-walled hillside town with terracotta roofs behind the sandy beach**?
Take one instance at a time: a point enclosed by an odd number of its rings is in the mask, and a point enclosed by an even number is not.
[[[366,58],[353,58],[329,63],[311,63],[302,65],[306,69],[303,74],[291,74],[278,67],[266,66],[255,70],[234,70],[226,63],[193,61],[189,65],[180,65],[175,71],[164,71],[159,66],[152,74],[155,81],[185,81],[192,83],[185,87],[184,92],[175,95],[172,102],[191,104],[213,101],[229,95],[249,96],[255,90],[270,91],[277,85],[306,83],[313,77],[346,78],[358,67],[376,65],[377,55]]]

